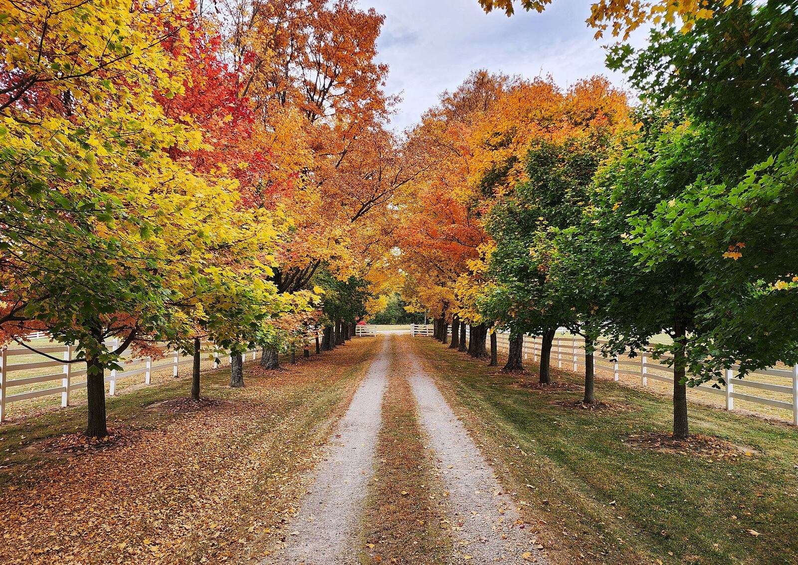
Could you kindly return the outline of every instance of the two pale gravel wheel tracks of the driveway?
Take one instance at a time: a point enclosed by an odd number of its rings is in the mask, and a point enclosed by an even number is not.
[[[358,563],[360,518],[375,469],[375,447],[381,427],[382,398],[391,367],[393,337],[382,348],[327,445],[314,484],[291,522],[279,551],[263,565],[355,565]],[[448,492],[448,520],[455,563],[546,563],[535,539],[523,526],[512,497],[468,436],[416,356],[401,348],[397,363],[412,367],[409,383],[419,406],[419,421],[428,448]]]

